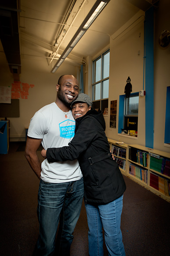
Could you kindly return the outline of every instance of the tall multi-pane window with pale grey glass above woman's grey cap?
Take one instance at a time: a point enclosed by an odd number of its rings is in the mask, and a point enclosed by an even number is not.
[[[95,109],[103,112],[108,108],[109,98],[109,62],[110,52],[107,51],[93,61],[92,100]]]

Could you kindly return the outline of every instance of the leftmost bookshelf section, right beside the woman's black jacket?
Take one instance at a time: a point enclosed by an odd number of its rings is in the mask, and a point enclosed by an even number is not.
[[[110,150],[122,173],[126,173],[127,144],[118,144],[116,140],[108,139]]]

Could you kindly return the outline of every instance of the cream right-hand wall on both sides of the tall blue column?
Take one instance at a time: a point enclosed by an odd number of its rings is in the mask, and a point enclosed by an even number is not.
[[[166,88],[170,86],[170,45],[162,48],[159,34],[163,30],[170,31],[169,10],[170,1],[167,0],[161,0],[154,10],[154,148],[165,152],[170,152],[170,146],[164,144]],[[137,16],[141,18],[137,19]],[[137,139],[118,135],[119,95],[124,93],[127,77],[130,76],[132,92],[143,90],[143,53],[144,20],[140,11],[110,38],[109,107],[111,100],[117,100],[116,129],[109,128],[109,116],[105,120],[109,138],[145,146],[145,97],[139,97]]]

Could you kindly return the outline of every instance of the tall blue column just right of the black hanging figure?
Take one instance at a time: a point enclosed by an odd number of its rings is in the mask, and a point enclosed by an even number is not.
[[[145,146],[154,142],[154,9],[145,12]]]

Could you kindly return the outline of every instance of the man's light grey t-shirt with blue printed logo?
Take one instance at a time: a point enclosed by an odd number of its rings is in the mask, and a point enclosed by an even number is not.
[[[68,146],[74,137],[75,124],[71,110],[65,118],[63,111],[53,102],[35,113],[29,124],[28,136],[43,139],[44,149]],[[51,183],[77,181],[82,177],[77,159],[54,163],[45,159],[41,169],[41,179]]]

